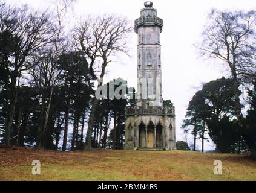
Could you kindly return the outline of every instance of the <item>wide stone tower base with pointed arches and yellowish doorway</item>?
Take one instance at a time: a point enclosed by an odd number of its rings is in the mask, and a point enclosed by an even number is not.
[[[127,107],[125,149],[174,150],[174,107]]]

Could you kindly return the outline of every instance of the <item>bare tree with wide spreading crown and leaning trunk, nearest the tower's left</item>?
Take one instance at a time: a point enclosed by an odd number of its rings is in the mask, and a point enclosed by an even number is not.
[[[100,80],[97,87],[102,86],[107,65],[117,52],[128,53],[126,38],[133,30],[129,22],[122,17],[104,15],[88,18],[80,22],[74,30],[74,45],[85,54],[93,80]],[[97,66],[98,63],[101,65]],[[91,89],[93,85],[88,81]],[[91,150],[94,117],[99,99],[94,97],[88,122],[85,150]]]

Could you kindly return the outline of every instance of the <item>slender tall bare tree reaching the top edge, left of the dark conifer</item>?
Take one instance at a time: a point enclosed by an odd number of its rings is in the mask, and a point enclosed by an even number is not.
[[[74,0],[54,0],[54,13],[56,13],[56,28],[53,28],[54,41],[48,46],[44,53],[39,56],[38,65],[34,66],[31,74],[36,86],[41,89],[42,104],[39,115],[38,134],[36,146],[43,145],[43,137],[47,130],[48,117],[50,113],[51,100],[53,90],[56,83],[59,81],[61,70],[57,68],[57,60],[59,55],[67,49],[68,45],[65,43],[65,31],[62,22],[65,19],[68,7],[72,5]]]

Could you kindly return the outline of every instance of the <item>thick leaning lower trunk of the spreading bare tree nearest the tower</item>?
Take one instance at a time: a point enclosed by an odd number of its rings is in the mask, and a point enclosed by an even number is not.
[[[97,98],[94,98],[93,105],[91,106],[90,118],[89,118],[89,122],[88,122],[88,129],[87,129],[85,148],[84,148],[85,151],[92,149],[91,134],[93,133],[94,117],[95,117],[98,105],[99,105],[99,100]]]

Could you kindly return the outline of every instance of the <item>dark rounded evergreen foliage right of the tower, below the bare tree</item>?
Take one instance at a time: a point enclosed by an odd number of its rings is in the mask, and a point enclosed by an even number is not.
[[[233,80],[224,77],[203,85],[189,102],[183,128],[192,126],[194,148],[196,139],[203,140],[205,134],[216,144],[222,153],[241,153],[247,151],[243,130],[235,119],[235,99]]]

